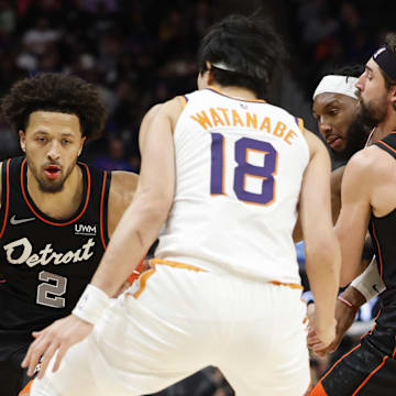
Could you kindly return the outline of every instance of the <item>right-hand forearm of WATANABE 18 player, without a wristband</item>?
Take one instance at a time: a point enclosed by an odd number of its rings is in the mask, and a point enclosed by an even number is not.
[[[306,248],[307,249],[307,248]],[[341,254],[339,245],[329,243],[322,249],[306,250],[306,271],[314,295],[316,311],[322,317],[334,312],[339,290]]]

